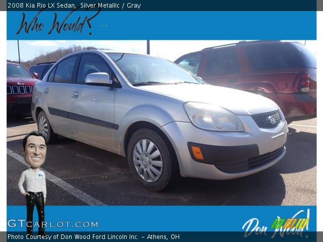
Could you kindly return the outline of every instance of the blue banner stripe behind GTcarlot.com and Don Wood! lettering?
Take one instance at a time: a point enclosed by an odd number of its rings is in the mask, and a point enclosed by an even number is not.
[[[25,206],[8,206],[7,230],[25,231],[25,216]],[[46,231],[274,231],[278,216],[309,218],[304,231],[316,231],[316,206],[45,206]],[[98,226],[72,227],[76,221]]]

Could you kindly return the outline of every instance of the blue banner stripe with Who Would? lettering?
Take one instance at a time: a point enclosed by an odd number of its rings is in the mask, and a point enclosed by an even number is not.
[[[304,11],[8,12],[7,24],[8,40],[316,39],[316,12]]]

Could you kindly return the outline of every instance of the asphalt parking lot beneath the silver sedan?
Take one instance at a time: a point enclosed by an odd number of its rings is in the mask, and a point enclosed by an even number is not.
[[[7,117],[7,205],[25,205],[17,184],[27,169],[24,135],[37,130],[30,114]],[[293,122],[285,157],[233,180],[179,177],[153,193],[132,178],[124,157],[70,139],[48,145],[46,205],[316,205],[316,118]]]

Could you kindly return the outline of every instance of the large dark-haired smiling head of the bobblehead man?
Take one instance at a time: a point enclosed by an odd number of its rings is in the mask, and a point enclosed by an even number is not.
[[[31,135],[22,148],[25,162],[33,168],[40,167],[46,158],[46,142],[42,136]]]

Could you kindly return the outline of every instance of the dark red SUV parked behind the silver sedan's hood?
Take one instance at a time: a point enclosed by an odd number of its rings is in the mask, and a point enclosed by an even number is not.
[[[274,100],[289,123],[316,116],[316,56],[298,42],[241,41],[185,54],[175,63],[209,84]]]

